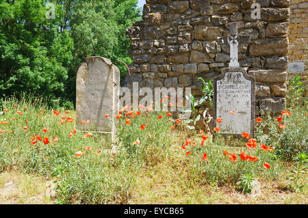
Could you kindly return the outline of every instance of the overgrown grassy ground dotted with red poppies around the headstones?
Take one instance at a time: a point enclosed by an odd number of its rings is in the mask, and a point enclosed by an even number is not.
[[[75,111],[43,105],[33,97],[3,102],[1,204],[308,203],[307,156],[303,165],[294,159],[307,153],[305,103],[261,116],[256,141],[213,140],[169,113],[128,107],[113,144],[76,131]]]

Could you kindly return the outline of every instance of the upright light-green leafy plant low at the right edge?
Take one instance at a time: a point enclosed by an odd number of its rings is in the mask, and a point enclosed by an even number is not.
[[[303,187],[307,183],[307,178],[303,178],[305,173],[307,173],[307,158],[308,156],[305,152],[297,154],[294,160],[295,163],[293,164],[294,169],[290,170],[291,175],[287,177],[287,180],[291,182],[291,187],[296,192],[303,191]]]

